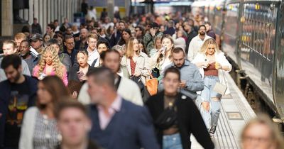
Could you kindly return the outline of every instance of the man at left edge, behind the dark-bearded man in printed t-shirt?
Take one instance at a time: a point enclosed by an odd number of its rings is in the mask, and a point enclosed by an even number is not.
[[[3,52],[4,52],[4,57],[6,57],[8,55],[13,55],[13,54],[18,55],[18,51],[16,49],[16,43],[13,42],[13,40],[5,40],[3,42],[2,49],[3,49]],[[0,65],[1,65],[2,60],[3,60],[3,57],[0,58]],[[22,69],[23,75],[31,76],[31,72],[28,69],[28,64],[24,60],[22,60],[21,65],[22,65],[22,68],[23,68]],[[4,81],[6,79],[7,78],[6,78],[6,75],[4,73],[4,70],[0,69],[0,82]]]

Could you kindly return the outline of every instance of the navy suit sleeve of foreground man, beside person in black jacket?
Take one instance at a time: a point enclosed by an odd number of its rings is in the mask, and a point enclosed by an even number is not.
[[[136,118],[138,119],[136,124],[138,125],[138,141],[141,144],[141,148],[160,148],[154,133],[153,120],[148,109],[144,106],[141,107],[141,112],[139,112]]]

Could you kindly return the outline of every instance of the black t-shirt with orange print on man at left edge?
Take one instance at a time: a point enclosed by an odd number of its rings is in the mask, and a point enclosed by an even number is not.
[[[11,84],[4,137],[4,145],[7,147],[18,147],[23,113],[28,109],[29,105],[29,92],[30,89],[26,81],[21,84]]]

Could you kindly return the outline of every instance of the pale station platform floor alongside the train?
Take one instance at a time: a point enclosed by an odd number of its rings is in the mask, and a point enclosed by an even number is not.
[[[241,148],[240,136],[242,129],[256,114],[229,73],[226,73],[225,77],[231,94],[222,96],[221,114],[212,141],[217,149],[238,149]],[[193,135],[190,140],[192,140],[192,149],[202,148]]]

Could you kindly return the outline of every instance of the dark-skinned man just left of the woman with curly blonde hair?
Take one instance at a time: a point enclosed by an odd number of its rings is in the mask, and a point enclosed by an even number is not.
[[[28,64],[30,72],[33,72],[33,68],[38,65],[39,57],[38,55],[32,55],[30,52],[30,43],[28,40],[23,40],[20,44],[20,55],[23,60]]]

